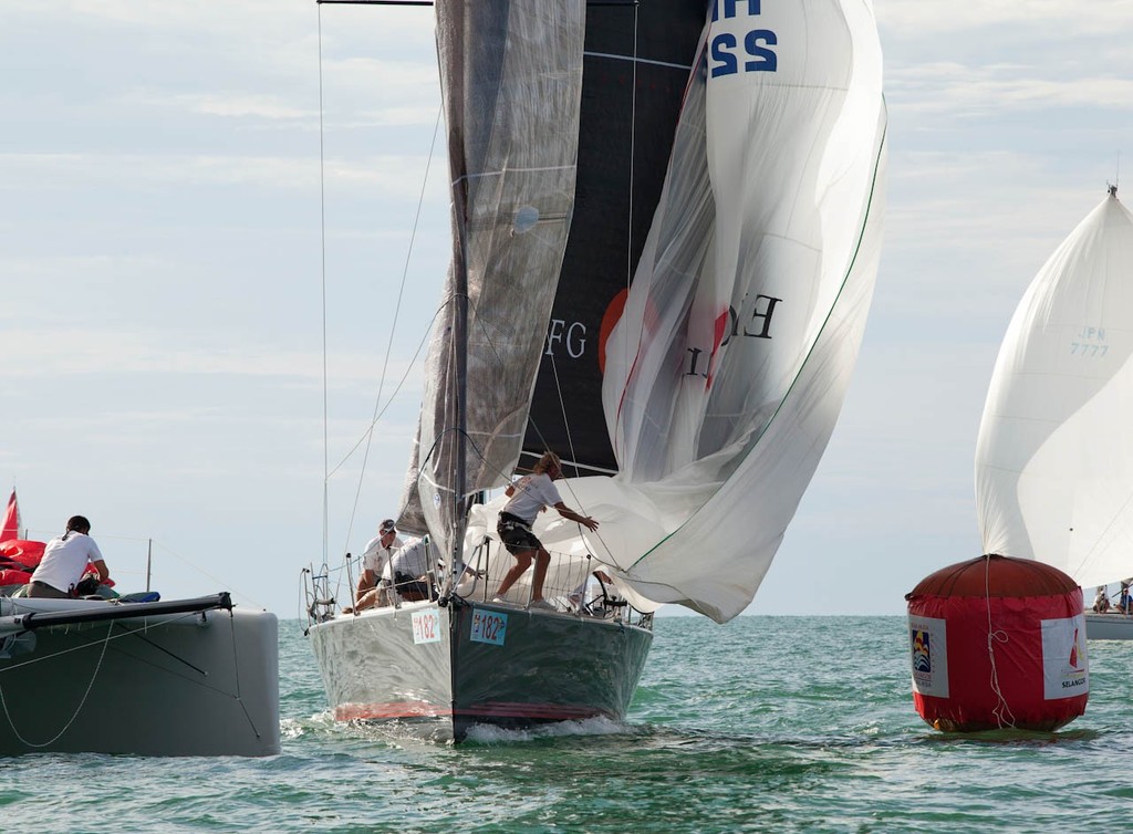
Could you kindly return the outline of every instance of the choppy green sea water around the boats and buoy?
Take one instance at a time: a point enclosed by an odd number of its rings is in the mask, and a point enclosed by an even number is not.
[[[1133,809],[1133,642],[1090,644],[1062,732],[943,735],[917,716],[904,619],[663,618],[627,723],[453,748],[335,724],[280,623],[283,752],[0,760],[25,832],[1053,832]],[[170,716],[176,721],[177,716]]]

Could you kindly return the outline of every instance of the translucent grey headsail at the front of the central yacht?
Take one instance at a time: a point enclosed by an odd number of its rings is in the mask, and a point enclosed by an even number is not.
[[[514,469],[574,198],[585,0],[436,3],[452,189],[452,265],[433,327],[401,525],[448,551],[459,390],[465,492]],[[467,374],[458,305],[467,282]]]

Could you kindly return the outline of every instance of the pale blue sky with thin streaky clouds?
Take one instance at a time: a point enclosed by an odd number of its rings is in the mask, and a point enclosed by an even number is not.
[[[1133,179],[1133,0],[875,10],[874,306],[749,613],[900,614],[980,555],[999,340]],[[397,508],[448,262],[438,88],[427,8],[0,8],[0,492],[32,537],[82,513],[125,589],[148,558],[165,597],[231,589],[288,619],[304,569],[360,551]]]

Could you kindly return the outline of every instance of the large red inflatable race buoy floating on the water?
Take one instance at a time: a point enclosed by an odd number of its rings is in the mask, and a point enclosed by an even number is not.
[[[913,704],[937,730],[1056,730],[1090,692],[1082,589],[1056,568],[987,555],[905,595]]]

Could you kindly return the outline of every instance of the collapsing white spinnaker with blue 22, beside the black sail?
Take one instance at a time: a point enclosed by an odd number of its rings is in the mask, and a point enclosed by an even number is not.
[[[755,595],[857,360],[884,213],[866,0],[721,1],[603,402],[621,474],[562,491],[631,596],[724,621]],[[569,500],[568,500],[569,501]]]

